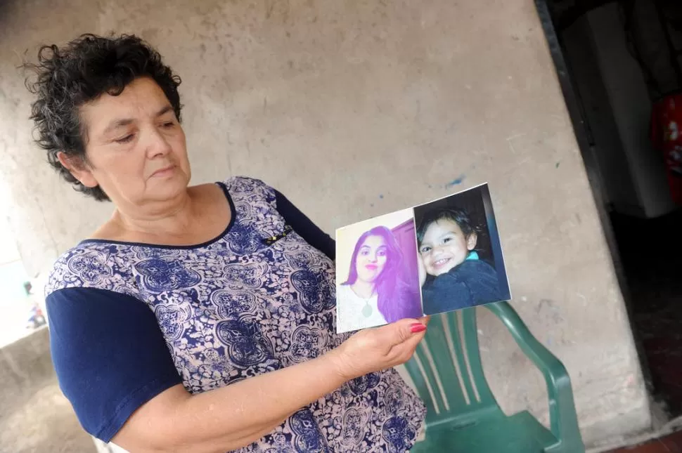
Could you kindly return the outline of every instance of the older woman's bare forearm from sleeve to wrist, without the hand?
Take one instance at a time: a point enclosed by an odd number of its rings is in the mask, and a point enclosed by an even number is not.
[[[219,452],[262,438],[301,407],[345,382],[330,355],[191,395],[169,388],[112,439],[131,452]]]

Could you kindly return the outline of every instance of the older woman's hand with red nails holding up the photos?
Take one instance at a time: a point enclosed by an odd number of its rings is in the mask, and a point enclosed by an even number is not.
[[[428,320],[428,317],[405,319],[359,331],[329,353],[330,358],[345,381],[401,365],[410,360],[424,338]]]

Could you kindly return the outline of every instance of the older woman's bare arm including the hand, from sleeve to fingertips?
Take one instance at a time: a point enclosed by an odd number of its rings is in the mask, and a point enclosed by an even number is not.
[[[424,329],[417,320],[402,320],[361,331],[314,360],[198,395],[174,386],[134,412],[112,442],[131,452],[244,447],[345,381],[406,362]]]

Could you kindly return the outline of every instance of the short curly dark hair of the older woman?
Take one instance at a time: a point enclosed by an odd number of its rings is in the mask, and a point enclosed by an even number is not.
[[[99,186],[82,185],[57,157],[62,151],[87,162],[87,137],[79,107],[104,93],[118,96],[134,79],[150,77],[163,90],[180,121],[180,77],[162,63],[154,48],[134,35],[82,34],[62,48],[54,44],[41,46],[37,63],[25,63],[23,67],[37,75],[34,81],[26,79],[28,90],[37,95],[30,117],[35,122],[36,143],[47,151],[49,164],[75,190],[98,201],[109,197]]]

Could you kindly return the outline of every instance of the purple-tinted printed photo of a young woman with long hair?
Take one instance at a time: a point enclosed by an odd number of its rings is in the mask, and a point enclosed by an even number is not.
[[[336,231],[339,333],[422,315],[416,250],[412,209]]]

